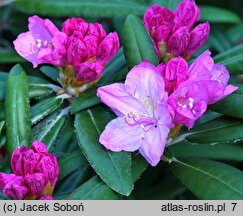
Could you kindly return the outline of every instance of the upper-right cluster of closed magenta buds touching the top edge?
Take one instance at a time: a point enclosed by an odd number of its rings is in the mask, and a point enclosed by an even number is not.
[[[175,12],[160,5],[153,5],[144,14],[144,24],[149,32],[157,56],[167,61],[193,55],[208,39],[209,23],[202,23],[193,30],[200,11],[194,1],[182,1]]]

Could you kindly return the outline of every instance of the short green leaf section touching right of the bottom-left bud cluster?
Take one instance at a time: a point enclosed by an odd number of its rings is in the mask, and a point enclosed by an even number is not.
[[[63,158],[58,160],[58,164],[60,167],[58,180],[61,180],[75,170],[89,165],[80,151],[65,155]]]

